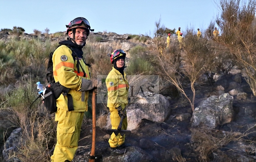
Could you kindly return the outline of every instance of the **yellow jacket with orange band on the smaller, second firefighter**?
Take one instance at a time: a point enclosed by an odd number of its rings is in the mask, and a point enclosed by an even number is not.
[[[125,79],[125,80],[124,80]],[[121,106],[123,109],[128,104],[129,83],[126,74],[123,75],[114,67],[108,73],[106,78],[108,88],[108,107],[117,108]]]

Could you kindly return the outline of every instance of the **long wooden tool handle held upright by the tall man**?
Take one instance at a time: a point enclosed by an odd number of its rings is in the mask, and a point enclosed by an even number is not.
[[[92,91],[92,150],[91,157],[95,157],[95,140],[96,140],[96,110],[95,110],[95,89]],[[95,159],[89,159],[89,162],[94,162]]]

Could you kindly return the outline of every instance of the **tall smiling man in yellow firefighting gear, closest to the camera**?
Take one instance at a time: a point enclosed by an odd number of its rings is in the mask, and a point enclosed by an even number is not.
[[[90,31],[94,30],[83,17],[73,19],[66,27],[68,40],[59,42],[60,46],[52,55],[55,82],[69,88],[67,94],[61,94],[56,100],[57,143],[51,156],[52,162],[73,160],[78,147],[84,112],[88,107],[89,90],[97,88],[97,84],[100,84],[96,78],[91,80],[82,51]],[[68,99],[70,95],[71,100]]]

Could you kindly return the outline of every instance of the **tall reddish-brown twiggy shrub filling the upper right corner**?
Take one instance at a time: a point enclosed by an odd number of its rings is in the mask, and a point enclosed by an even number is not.
[[[220,0],[221,13],[215,23],[220,29],[218,37],[212,34],[214,22],[208,27],[208,35],[223,45],[233,56],[236,64],[246,73],[246,81],[256,96],[256,25],[255,0]]]

